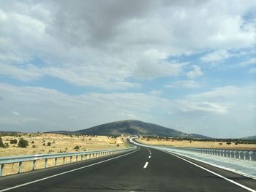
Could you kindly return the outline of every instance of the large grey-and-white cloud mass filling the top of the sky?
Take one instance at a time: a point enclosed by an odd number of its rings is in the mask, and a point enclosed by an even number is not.
[[[165,61],[170,55],[222,49],[202,58],[213,62],[255,45],[255,21],[243,18],[255,4],[238,2],[5,1],[1,74],[110,90],[138,87],[132,78],[176,76],[182,67]],[[31,64],[34,57],[45,65]]]

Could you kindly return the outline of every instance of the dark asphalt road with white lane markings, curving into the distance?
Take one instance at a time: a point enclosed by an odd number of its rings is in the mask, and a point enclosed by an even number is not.
[[[255,180],[193,162],[241,185],[256,189]],[[78,170],[67,172],[73,169]],[[63,172],[66,173],[61,174]],[[55,176],[50,177],[53,175]],[[39,179],[42,180],[23,185]],[[247,191],[181,158],[159,150],[152,149],[150,152],[146,147],[140,147],[129,154],[119,153],[108,158],[97,158],[0,179],[0,191],[17,185],[20,187],[10,191]]]

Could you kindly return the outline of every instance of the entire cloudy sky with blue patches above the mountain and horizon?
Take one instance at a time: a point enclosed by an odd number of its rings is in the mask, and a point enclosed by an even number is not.
[[[136,119],[256,134],[256,3],[0,1],[0,130]]]

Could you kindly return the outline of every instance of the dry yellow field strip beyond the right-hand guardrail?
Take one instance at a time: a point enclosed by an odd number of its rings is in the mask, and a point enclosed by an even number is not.
[[[256,150],[256,144],[238,144],[231,143],[227,145],[227,142],[203,142],[203,141],[187,141],[187,140],[176,140],[176,139],[138,139],[139,142],[146,143],[149,145],[166,145],[173,147],[203,147],[203,148],[214,148],[214,149],[233,149],[233,150]],[[219,145],[222,143],[222,145]]]

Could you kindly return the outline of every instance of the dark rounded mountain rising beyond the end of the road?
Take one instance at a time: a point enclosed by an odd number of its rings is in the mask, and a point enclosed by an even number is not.
[[[90,135],[145,135],[159,137],[189,137],[189,138],[210,138],[200,134],[186,134],[172,128],[166,128],[154,123],[146,123],[140,120],[119,120],[112,123],[105,123],[99,126],[86,128],[78,131],[52,131],[62,134],[90,134]]]

